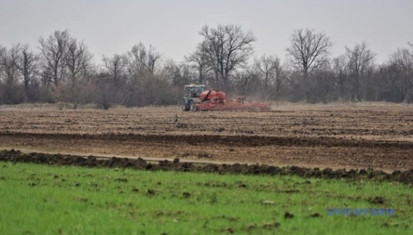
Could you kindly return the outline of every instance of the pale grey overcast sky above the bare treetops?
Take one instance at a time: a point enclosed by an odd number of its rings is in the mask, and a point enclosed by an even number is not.
[[[284,59],[298,28],[324,32],[344,46],[366,41],[379,63],[413,42],[412,0],[0,0],[0,45],[39,45],[39,36],[70,30],[95,60],[129,50],[141,41],[180,61],[195,49],[205,24],[240,24],[257,36],[255,56]]]

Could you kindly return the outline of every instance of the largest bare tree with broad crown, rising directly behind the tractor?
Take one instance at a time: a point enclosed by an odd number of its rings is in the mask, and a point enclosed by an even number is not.
[[[198,50],[204,50],[208,65],[215,75],[215,82],[224,89],[229,88],[231,72],[246,65],[253,54],[253,42],[257,41],[252,31],[244,32],[240,25],[205,25],[199,34],[204,41]]]

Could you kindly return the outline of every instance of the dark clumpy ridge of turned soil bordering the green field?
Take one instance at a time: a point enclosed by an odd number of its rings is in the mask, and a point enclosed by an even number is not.
[[[142,158],[130,159],[112,157],[109,159],[98,159],[94,156],[82,157],[76,155],[50,155],[45,153],[21,153],[19,150],[0,151],[0,161],[12,161],[13,163],[25,162],[34,164],[47,164],[53,166],[83,166],[83,167],[107,167],[107,168],[133,168],[139,170],[176,170],[186,172],[210,172],[219,174],[244,174],[244,175],[297,175],[300,177],[317,177],[324,179],[350,179],[362,180],[373,179],[378,181],[400,181],[406,184],[413,183],[413,170],[394,170],[386,173],[382,170],[332,170],[325,168],[301,168],[298,166],[278,167],[259,164],[193,164],[191,162],[180,162],[176,158],[173,161],[160,160],[156,164],[147,162]],[[120,179],[121,180],[121,179]],[[383,202],[383,198],[369,199],[373,202]]]

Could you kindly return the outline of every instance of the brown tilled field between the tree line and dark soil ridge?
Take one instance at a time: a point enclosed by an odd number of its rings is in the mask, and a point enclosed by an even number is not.
[[[332,168],[413,169],[413,107],[274,107],[267,113],[1,110],[0,147]]]

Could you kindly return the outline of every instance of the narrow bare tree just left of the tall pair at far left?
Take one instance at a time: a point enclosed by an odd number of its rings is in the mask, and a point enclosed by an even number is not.
[[[30,97],[30,85],[32,85],[38,74],[38,63],[39,55],[34,53],[28,44],[23,45],[23,47],[21,47],[19,59],[17,60],[17,69],[19,69],[21,74],[25,96],[29,100],[32,100]]]

